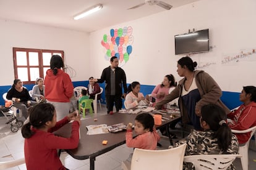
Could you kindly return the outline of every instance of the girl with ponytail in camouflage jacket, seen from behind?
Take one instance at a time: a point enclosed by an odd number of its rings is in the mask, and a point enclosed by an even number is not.
[[[226,123],[227,116],[223,108],[215,104],[201,108],[200,124],[203,131],[192,129],[186,139],[177,142],[176,147],[187,144],[185,155],[237,154],[237,137],[232,134]],[[183,169],[192,169],[192,163],[184,163]],[[233,169],[231,164],[229,167]]]

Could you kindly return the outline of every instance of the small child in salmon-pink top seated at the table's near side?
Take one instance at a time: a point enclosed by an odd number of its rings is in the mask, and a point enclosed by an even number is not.
[[[155,150],[160,140],[159,134],[154,126],[154,118],[149,113],[142,113],[136,116],[134,131],[137,136],[132,138],[132,126],[127,124],[126,145],[127,147]]]

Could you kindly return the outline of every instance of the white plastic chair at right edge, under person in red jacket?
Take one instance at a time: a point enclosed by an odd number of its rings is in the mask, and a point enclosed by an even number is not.
[[[254,134],[256,131],[256,126],[250,127],[249,129],[246,129],[243,131],[237,131],[233,129],[231,129],[231,131],[234,134],[244,134],[246,132],[250,132],[249,140],[245,143],[245,145],[239,146],[239,154],[242,155],[242,158],[241,158],[242,169],[248,170],[248,149],[249,149],[250,139],[252,138],[253,135],[255,137],[255,142],[256,142],[256,134]]]

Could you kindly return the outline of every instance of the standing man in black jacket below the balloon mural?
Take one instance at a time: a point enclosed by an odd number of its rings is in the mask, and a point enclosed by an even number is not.
[[[114,103],[116,111],[122,108],[122,86],[124,87],[124,97],[127,93],[126,73],[118,67],[119,61],[116,56],[111,57],[110,66],[102,71],[100,79],[94,79],[95,82],[103,83],[105,81],[105,97],[108,108],[108,114],[113,115]]]

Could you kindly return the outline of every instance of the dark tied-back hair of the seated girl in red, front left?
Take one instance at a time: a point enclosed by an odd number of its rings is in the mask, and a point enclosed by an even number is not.
[[[30,108],[30,110],[28,110],[30,121],[22,126],[22,136],[24,138],[30,138],[34,134],[30,128],[31,126],[40,129],[45,126],[46,122],[52,121],[54,110],[54,106],[50,103],[38,103]]]

